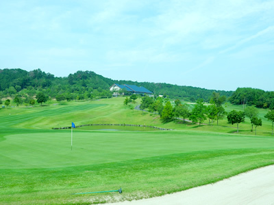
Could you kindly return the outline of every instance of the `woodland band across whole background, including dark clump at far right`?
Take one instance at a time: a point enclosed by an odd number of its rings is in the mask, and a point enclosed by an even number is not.
[[[0,69],[0,100],[3,98],[33,99],[38,93],[46,98],[57,100],[84,100],[92,98],[110,98],[109,87],[113,83],[146,87],[155,96],[163,95],[170,99],[196,102],[203,99],[209,102],[212,94],[217,92],[236,105],[256,105],[256,107],[274,108],[274,92],[253,88],[238,88],[234,91],[207,90],[205,88],[172,85],[169,83],[149,83],[105,78],[92,71],[77,71],[68,77],[55,77],[40,68],[27,72],[20,68]]]

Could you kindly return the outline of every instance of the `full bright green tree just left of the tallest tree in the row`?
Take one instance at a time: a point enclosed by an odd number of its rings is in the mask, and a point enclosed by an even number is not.
[[[197,100],[190,114],[190,120],[192,122],[199,122],[199,126],[206,120],[206,106],[203,104],[203,99]]]

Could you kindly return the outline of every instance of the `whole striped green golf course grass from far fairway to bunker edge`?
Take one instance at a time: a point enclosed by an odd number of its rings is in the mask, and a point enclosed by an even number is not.
[[[227,105],[227,109],[241,109]],[[260,110],[263,116],[265,110]],[[262,118],[260,116],[260,118]],[[53,127],[145,124],[173,131]],[[123,98],[0,110],[0,204],[92,204],[182,191],[274,164],[271,123],[257,136],[236,126],[170,122],[123,106]],[[90,191],[123,193],[71,195]]]

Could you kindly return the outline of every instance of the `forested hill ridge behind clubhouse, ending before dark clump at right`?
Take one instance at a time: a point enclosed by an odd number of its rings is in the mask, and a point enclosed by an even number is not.
[[[110,97],[109,87],[113,83],[132,84],[146,87],[156,95],[163,94],[169,98],[179,98],[186,101],[196,101],[199,98],[208,100],[213,92],[219,92],[222,96],[232,96],[232,91],[207,90],[199,87],[172,85],[168,83],[149,83],[136,81],[115,81],[105,78],[92,71],[77,71],[68,77],[54,77],[40,69],[27,72],[20,68],[0,70],[0,97],[12,96],[22,90],[28,95],[38,91],[44,91],[51,98],[58,94],[82,95],[82,98]]]

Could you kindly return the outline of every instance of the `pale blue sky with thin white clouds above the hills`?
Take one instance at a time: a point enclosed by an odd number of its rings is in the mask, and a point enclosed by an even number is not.
[[[274,90],[274,0],[0,1],[0,69]]]

